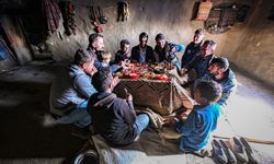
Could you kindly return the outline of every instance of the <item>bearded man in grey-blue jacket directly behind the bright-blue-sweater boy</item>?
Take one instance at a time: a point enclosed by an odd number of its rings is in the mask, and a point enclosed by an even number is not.
[[[203,80],[214,80],[222,87],[222,94],[217,102],[220,106],[225,107],[231,93],[236,91],[237,80],[233,71],[229,68],[227,58],[215,58],[208,67],[209,73],[205,74]]]

